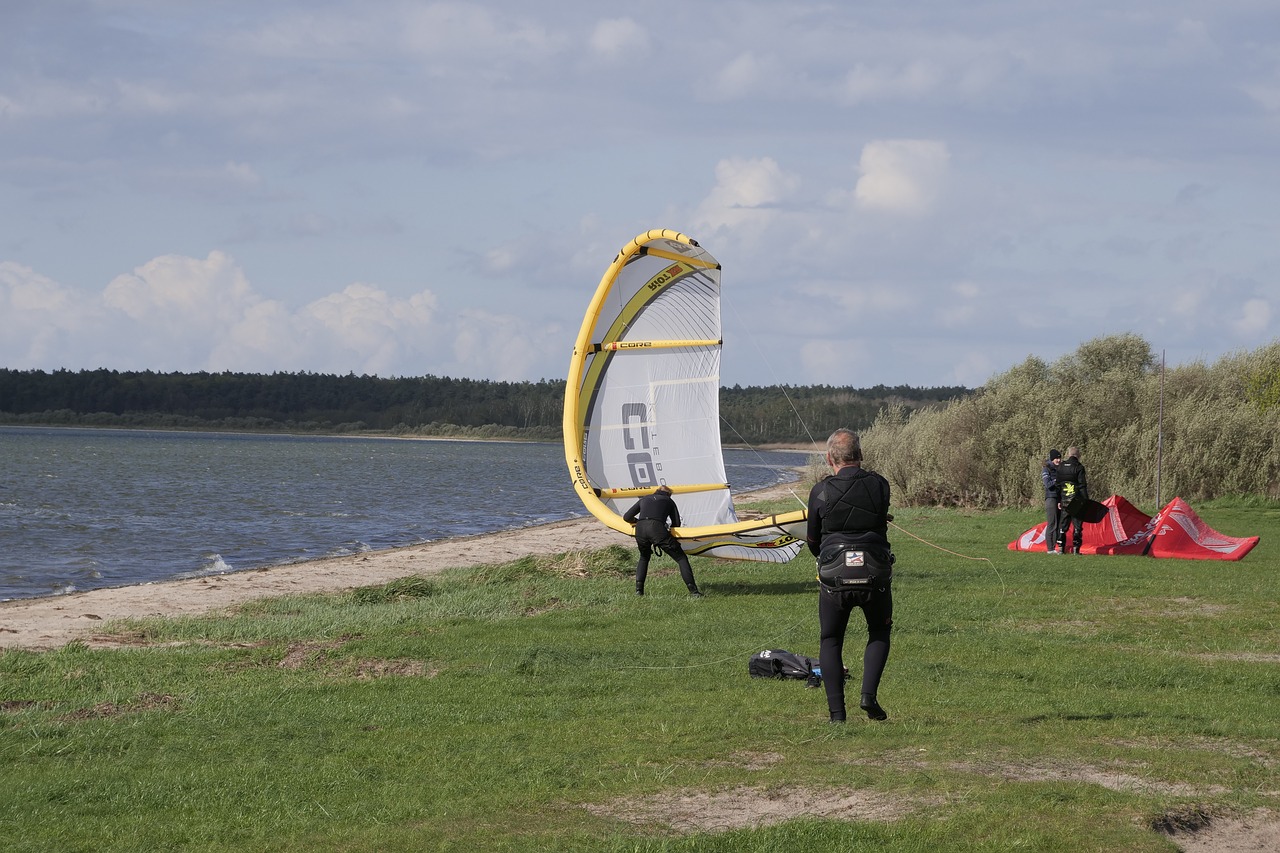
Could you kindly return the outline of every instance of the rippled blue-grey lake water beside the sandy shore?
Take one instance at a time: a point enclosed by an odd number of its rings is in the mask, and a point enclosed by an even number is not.
[[[724,451],[735,492],[806,461]],[[584,515],[561,444],[0,426],[0,601]]]

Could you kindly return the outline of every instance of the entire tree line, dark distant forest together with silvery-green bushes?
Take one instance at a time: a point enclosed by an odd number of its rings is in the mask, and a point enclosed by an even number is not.
[[[4,424],[559,441],[563,398],[562,379],[0,369]],[[1103,337],[974,391],[733,386],[721,416],[726,444],[855,429],[905,506],[1034,506],[1048,450],[1070,446],[1098,500],[1280,500],[1280,342],[1162,369],[1143,338]]]

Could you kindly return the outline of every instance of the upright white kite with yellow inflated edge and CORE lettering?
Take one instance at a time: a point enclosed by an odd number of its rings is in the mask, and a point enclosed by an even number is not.
[[[622,520],[659,485],[676,494],[691,555],[786,562],[805,512],[739,521],[719,443],[721,268],[694,240],[649,231],[604,272],[573,345],[564,459],[590,512]]]

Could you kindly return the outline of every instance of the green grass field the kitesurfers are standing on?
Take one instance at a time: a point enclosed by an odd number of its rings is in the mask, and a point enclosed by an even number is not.
[[[695,560],[701,601],[607,548],[3,652],[0,848],[1172,850],[1158,822],[1280,797],[1280,508],[1197,510],[1262,543],[1047,557],[1005,548],[1036,511],[899,511],[946,551],[893,532],[883,724],[746,675],[817,657],[806,556]],[[698,795],[801,806],[672,830]]]

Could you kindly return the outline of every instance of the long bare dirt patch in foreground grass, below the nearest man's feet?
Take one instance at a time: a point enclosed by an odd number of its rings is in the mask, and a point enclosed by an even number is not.
[[[904,798],[852,789],[733,788],[723,792],[671,792],[586,806],[593,815],[672,833],[723,833],[771,826],[796,817],[844,821],[895,821],[925,806]]]

